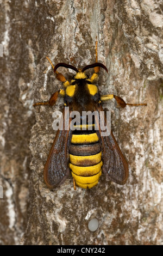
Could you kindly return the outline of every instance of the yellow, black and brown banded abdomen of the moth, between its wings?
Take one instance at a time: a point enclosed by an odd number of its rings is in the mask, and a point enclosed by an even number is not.
[[[97,185],[102,173],[102,152],[96,131],[73,131],[69,152],[69,167],[76,184],[82,188]]]

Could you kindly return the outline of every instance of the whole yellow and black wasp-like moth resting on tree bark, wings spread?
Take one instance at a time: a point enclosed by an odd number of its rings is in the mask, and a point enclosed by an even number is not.
[[[98,63],[97,60],[97,42],[96,42],[96,63],[87,65],[83,69],[77,69],[66,63],[58,63],[53,66],[51,60],[46,57],[54,69],[54,74],[61,81],[65,90],[55,92],[49,101],[38,102],[37,105],[55,105],[60,95],[64,96],[63,118],[65,119],[65,106],[69,107],[69,112],[78,111],[82,119],[83,111],[103,111],[101,102],[104,100],[115,99],[122,108],[126,105],[142,106],[146,103],[130,104],[116,95],[100,95],[98,87],[94,84],[98,77],[100,68],[108,72],[106,66]],[[71,82],[68,82],[64,75],[59,73],[57,69],[65,67],[76,71]],[[85,71],[94,68],[94,73],[89,78]],[[69,122],[71,118],[69,119]],[[99,177],[102,172],[106,177],[120,185],[126,184],[128,178],[128,164],[124,158],[121,149],[118,147],[116,139],[112,132],[109,136],[101,136],[101,129],[95,130],[95,123],[99,120],[93,120],[91,129],[89,124],[86,129],[80,125],[79,130],[64,129],[65,121],[63,120],[63,129],[57,131],[51,151],[49,153],[45,168],[43,170],[44,180],[50,189],[59,186],[65,181],[67,176],[72,174],[73,186],[82,188],[91,188],[98,184]],[[104,124],[107,122],[104,117]],[[110,127],[108,127],[110,129]]]

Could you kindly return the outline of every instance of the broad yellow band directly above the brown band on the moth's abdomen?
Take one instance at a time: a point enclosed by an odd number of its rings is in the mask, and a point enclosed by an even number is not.
[[[91,133],[91,134],[82,134],[82,135],[72,135],[71,143],[92,143],[92,142],[98,142],[98,136],[97,133]]]

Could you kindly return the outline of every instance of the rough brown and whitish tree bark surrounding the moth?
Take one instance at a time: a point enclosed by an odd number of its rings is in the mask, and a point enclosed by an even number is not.
[[[162,245],[162,1],[4,0],[0,12],[1,244]],[[62,88],[45,57],[78,68],[91,64],[96,37],[98,59],[109,70],[101,71],[102,94],[148,103],[103,105],[129,179],[120,186],[102,176],[91,190],[74,191],[70,175],[50,191],[42,172],[55,137],[52,113],[63,100],[32,107],[33,99],[46,101]],[[87,228],[93,217],[95,232]]]

